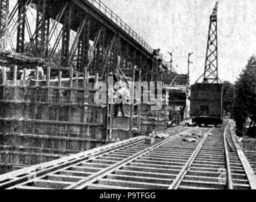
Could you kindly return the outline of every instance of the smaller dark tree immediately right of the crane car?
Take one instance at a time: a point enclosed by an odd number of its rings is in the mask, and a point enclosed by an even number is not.
[[[223,82],[223,109],[234,116],[234,85],[229,81]]]

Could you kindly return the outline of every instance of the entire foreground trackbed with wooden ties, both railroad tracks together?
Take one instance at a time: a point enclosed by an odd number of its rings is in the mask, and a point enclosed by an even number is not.
[[[169,138],[152,145],[140,136],[0,175],[0,189],[253,188],[255,175],[243,169],[231,132],[231,124],[168,129],[160,134]],[[202,136],[183,141],[188,133]]]

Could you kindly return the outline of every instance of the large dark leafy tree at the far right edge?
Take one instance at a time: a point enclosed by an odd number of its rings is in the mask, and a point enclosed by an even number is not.
[[[238,131],[243,131],[246,119],[255,128],[256,120],[256,57],[252,56],[235,83],[234,119]]]

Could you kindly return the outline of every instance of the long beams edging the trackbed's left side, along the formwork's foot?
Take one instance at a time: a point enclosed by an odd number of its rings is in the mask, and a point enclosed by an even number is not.
[[[181,127],[170,129],[169,133],[175,132],[179,129],[181,129]],[[143,142],[144,138],[145,136],[139,136],[130,140],[124,140],[118,143],[102,146],[100,148],[94,148],[93,150],[84,151],[69,157],[63,157],[52,162],[42,163],[40,165],[16,170],[9,174],[0,175],[0,189],[15,189],[27,183],[34,182],[37,179],[40,181],[40,179],[49,174],[71,169],[84,161],[94,160],[96,158],[103,157],[108,153],[119,151],[124,148],[129,149],[130,146]],[[33,176],[35,176],[35,179],[31,179]]]

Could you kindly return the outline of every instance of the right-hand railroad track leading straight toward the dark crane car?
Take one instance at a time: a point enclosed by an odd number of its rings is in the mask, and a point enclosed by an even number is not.
[[[245,158],[243,159],[245,160]],[[233,142],[230,125],[216,128],[171,189],[255,189],[255,176],[248,176]],[[251,181],[251,182],[250,182]]]

